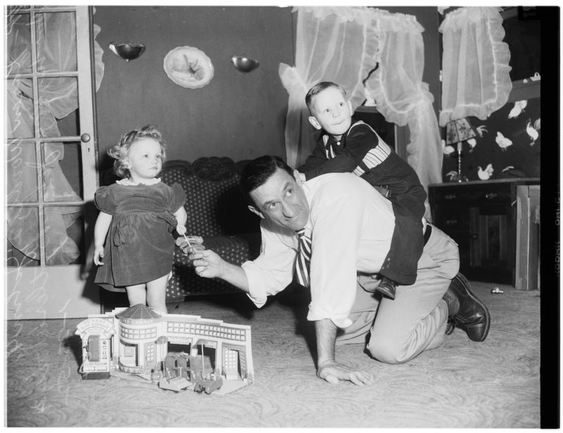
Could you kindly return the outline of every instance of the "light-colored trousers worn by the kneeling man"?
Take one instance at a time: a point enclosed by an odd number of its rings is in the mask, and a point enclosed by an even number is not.
[[[404,363],[443,343],[448,306],[442,297],[460,269],[457,244],[439,228],[432,232],[418,261],[413,285],[398,285],[394,300],[374,297],[379,280],[358,276],[358,290],[350,319],[336,344],[365,343],[374,358]],[[368,336],[369,333],[369,336]]]

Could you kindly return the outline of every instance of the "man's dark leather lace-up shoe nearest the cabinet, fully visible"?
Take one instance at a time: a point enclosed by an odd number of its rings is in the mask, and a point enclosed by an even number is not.
[[[450,310],[450,321],[456,328],[467,332],[474,342],[482,342],[486,339],[491,316],[487,306],[469,290],[467,278],[458,273],[450,283],[443,299]]]

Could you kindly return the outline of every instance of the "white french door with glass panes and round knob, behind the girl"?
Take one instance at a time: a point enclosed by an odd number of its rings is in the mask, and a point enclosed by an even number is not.
[[[96,214],[90,11],[5,11],[7,318],[96,314],[82,278]]]

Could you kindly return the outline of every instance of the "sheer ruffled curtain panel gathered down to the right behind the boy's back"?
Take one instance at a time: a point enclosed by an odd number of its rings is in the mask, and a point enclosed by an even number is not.
[[[398,13],[381,14],[375,26],[381,41],[379,67],[365,86],[387,122],[408,125],[407,161],[428,190],[429,183],[442,180],[442,150],[434,96],[422,82],[424,28],[414,16]]]

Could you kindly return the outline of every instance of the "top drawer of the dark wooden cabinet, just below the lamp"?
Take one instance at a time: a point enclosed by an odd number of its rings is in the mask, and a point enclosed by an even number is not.
[[[448,203],[457,205],[460,202],[468,205],[473,203],[500,205],[510,204],[514,200],[514,188],[510,183],[441,186],[429,190],[429,201],[432,205]]]

